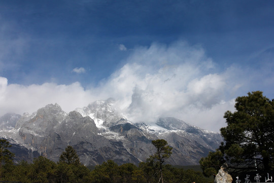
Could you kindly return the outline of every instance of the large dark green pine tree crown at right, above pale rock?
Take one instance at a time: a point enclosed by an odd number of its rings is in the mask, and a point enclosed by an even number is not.
[[[215,153],[200,160],[205,175],[215,174],[227,163],[230,172],[274,169],[274,100],[260,91],[237,97],[235,112],[226,111],[227,127]]]

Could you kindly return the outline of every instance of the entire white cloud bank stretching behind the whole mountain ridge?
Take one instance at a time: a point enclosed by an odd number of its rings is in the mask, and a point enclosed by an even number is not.
[[[233,110],[234,98],[249,92],[249,72],[236,66],[218,69],[200,46],[154,43],[134,48],[126,64],[95,87],[83,88],[79,82],[24,86],[0,77],[0,116],[32,113],[50,103],[70,112],[112,97],[133,122],[155,123],[158,117],[174,116],[219,131],[225,126],[224,112]]]

